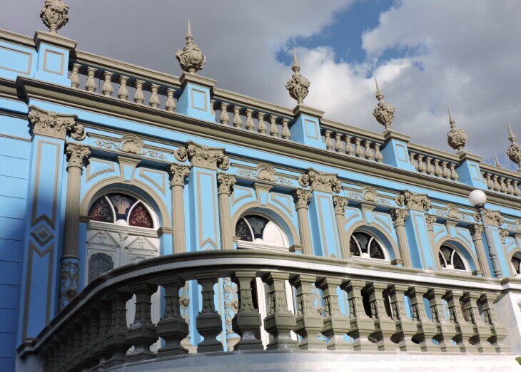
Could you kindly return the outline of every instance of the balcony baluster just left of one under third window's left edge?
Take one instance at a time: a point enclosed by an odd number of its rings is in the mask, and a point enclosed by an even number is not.
[[[340,312],[338,305],[336,289],[340,284],[341,279],[330,277],[325,277],[317,284],[324,296],[325,318],[322,334],[329,339],[328,350],[352,350],[350,343],[344,340],[344,334],[349,331],[349,320]]]

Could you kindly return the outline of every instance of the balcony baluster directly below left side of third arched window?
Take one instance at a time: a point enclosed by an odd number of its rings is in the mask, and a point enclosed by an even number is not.
[[[362,289],[365,281],[350,280],[342,286],[348,292],[349,300],[349,324],[348,335],[353,337],[353,350],[376,351],[376,343],[369,341],[369,335],[375,330],[373,319],[365,314],[363,307]]]

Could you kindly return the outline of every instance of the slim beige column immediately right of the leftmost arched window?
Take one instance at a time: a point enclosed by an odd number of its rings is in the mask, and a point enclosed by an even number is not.
[[[172,253],[186,252],[185,205],[183,190],[190,174],[188,165],[168,165],[172,193]]]

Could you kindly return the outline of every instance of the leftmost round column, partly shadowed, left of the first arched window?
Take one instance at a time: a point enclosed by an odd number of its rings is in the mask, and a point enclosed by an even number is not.
[[[66,148],[69,157],[67,164],[67,202],[65,207],[64,254],[61,256],[60,309],[78,294],[79,256],[78,229],[80,222],[80,182],[84,160],[91,150],[84,145],[69,143]]]

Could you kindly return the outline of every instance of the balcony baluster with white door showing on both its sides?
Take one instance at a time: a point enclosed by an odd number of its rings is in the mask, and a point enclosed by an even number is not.
[[[268,274],[264,281],[269,286],[268,316],[264,319],[264,328],[273,339],[266,346],[267,349],[295,349],[297,341],[291,339],[290,332],[297,326],[295,315],[288,311],[288,302],[285,296],[285,281],[289,274],[273,272]]]

